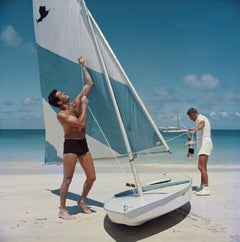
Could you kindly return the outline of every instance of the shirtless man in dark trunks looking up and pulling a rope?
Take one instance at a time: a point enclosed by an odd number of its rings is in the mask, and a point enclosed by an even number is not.
[[[82,208],[83,212],[87,214],[91,213],[91,210],[87,208],[86,198],[96,180],[93,159],[86,142],[87,96],[91,91],[93,81],[85,68],[83,57],[80,57],[78,62],[82,67],[86,84],[75,100],[70,103],[70,97],[65,92],[57,90],[53,90],[48,97],[51,105],[60,108],[57,118],[65,133],[63,181],[60,188],[60,207],[58,213],[58,216],[63,219],[74,218],[66,210],[66,198],[77,160],[80,161],[86,174],[86,181],[83,185],[83,192],[81,199],[78,201],[78,205]]]

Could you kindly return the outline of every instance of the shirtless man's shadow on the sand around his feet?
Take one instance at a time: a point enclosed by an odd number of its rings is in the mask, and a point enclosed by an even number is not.
[[[60,190],[59,189],[48,190],[48,191],[50,191],[51,193],[53,193],[57,196],[60,196]],[[72,193],[72,192],[68,192],[67,199],[72,200],[72,201],[76,201],[76,203],[77,203],[81,199],[81,196],[78,195],[78,194]],[[100,207],[100,208],[102,208],[103,205],[104,205],[102,202],[99,202],[99,201],[96,201],[96,200],[93,200],[93,199],[90,199],[90,198],[86,199],[86,203],[87,203],[88,206],[96,206],[96,207]],[[71,215],[75,215],[75,214],[83,212],[81,207],[78,206],[77,204],[75,206],[71,206],[71,207],[67,206],[66,208]],[[91,210],[91,212],[96,212],[95,210],[91,209],[90,207],[88,207],[88,208]]]

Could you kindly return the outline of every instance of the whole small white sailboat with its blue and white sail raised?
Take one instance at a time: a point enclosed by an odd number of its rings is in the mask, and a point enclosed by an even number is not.
[[[105,203],[110,220],[140,225],[187,203],[191,178],[186,175],[163,175],[141,185],[137,157],[170,149],[84,0],[33,0],[33,19],[46,130],[45,162],[61,161],[63,141],[57,110],[48,104],[47,96],[54,88],[72,97],[78,94],[82,73],[77,58],[83,55],[95,83],[89,97],[90,150],[94,158],[127,156],[136,185]]]

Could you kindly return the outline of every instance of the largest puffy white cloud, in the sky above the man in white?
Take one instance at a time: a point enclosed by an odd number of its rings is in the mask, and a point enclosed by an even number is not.
[[[198,78],[196,75],[186,75],[184,82],[187,86],[202,90],[213,90],[219,84],[219,79],[212,74],[205,74]]]

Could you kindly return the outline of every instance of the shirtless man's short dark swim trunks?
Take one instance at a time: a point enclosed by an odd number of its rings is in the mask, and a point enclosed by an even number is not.
[[[89,151],[86,139],[66,139],[64,141],[63,154],[76,154],[82,156]]]

